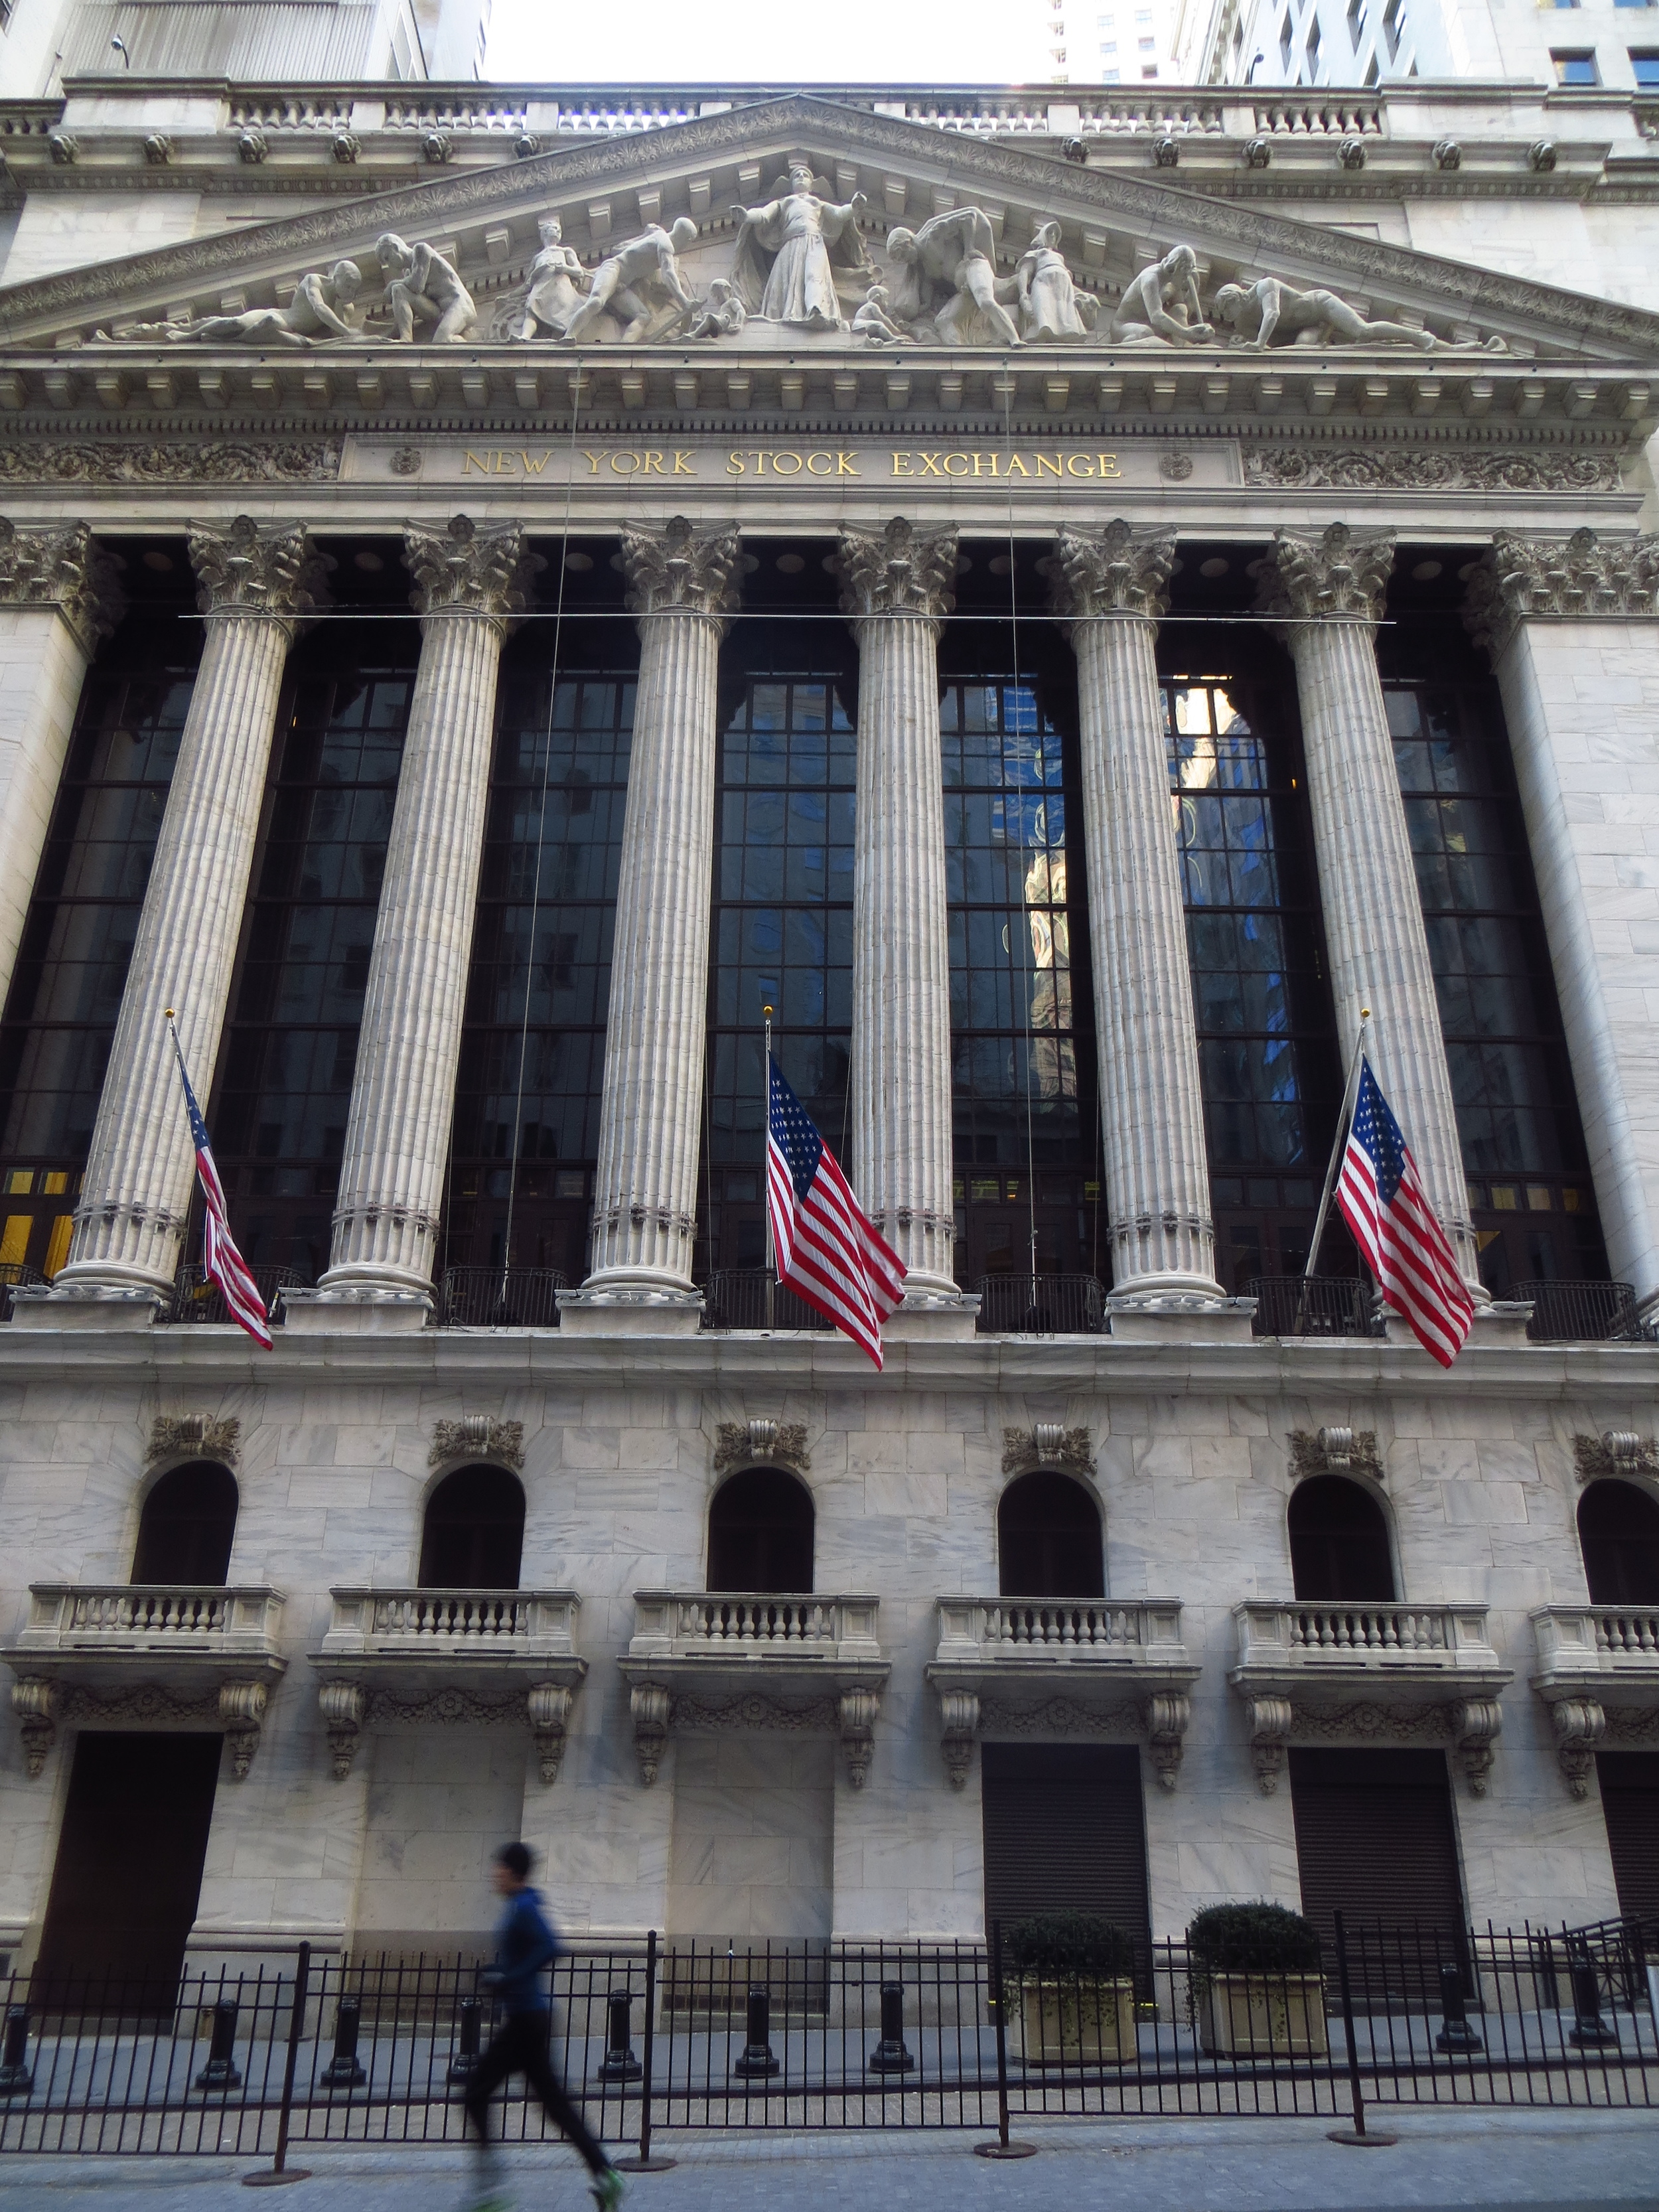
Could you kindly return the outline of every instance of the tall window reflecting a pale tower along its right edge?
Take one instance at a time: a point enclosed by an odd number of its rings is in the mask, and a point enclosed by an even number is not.
[[[940,732],[958,1279],[1099,1274],[1093,1024],[1073,989],[1075,750],[1037,686],[1002,677],[947,677]]]

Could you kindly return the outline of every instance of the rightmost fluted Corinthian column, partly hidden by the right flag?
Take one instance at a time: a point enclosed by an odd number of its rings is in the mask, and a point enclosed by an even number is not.
[[[1356,538],[1345,522],[1318,538],[1279,531],[1261,564],[1259,604],[1290,617],[1283,635],[1296,661],[1343,1064],[1354,1055],[1360,1006],[1369,1006],[1376,1079],[1458,1267],[1484,1305],[1429,938],[1376,672],[1374,630],[1391,566],[1394,531]]]

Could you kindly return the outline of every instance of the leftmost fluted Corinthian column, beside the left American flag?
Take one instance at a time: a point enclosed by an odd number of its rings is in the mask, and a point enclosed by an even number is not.
[[[230,969],[265,796],[283,661],[323,599],[327,562],[303,529],[239,515],[192,529],[197,606],[208,617],[133,962],[126,971],[69,1265],[46,1318],[69,1298],[170,1294],[190,1208],[195,1152],[166,1033],[177,1009],[186,1066],[206,1097],[219,1057]],[[108,1316],[113,1318],[113,1316]]]

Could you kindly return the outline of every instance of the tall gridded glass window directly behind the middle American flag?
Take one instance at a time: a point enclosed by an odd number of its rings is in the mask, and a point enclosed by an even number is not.
[[[741,648],[741,639],[734,644]],[[779,1066],[830,1150],[847,1159],[852,708],[854,690],[841,672],[750,668],[721,734],[708,980],[708,1270],[765,1265],[763,1006],[776,1009]]]

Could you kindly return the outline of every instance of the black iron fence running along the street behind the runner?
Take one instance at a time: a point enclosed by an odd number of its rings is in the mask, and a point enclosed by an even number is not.
[[[998,1975],[1000,1944],[739,1949],[650,1936],[553,1973],[553,2057],[615,2148],[681,2128],[998,2128],[1062,2115],[1659,2104],[1659,1924],[1442,1936],[1338,1922],[1310,1971],[1179,1942],[1117,1980]],[[471,1962],[312,1958],[142,1982],[13,1978],[0,2150],[458,2141],[491,2033]],[[549,2130],[522,2084],[509,2141]]]

